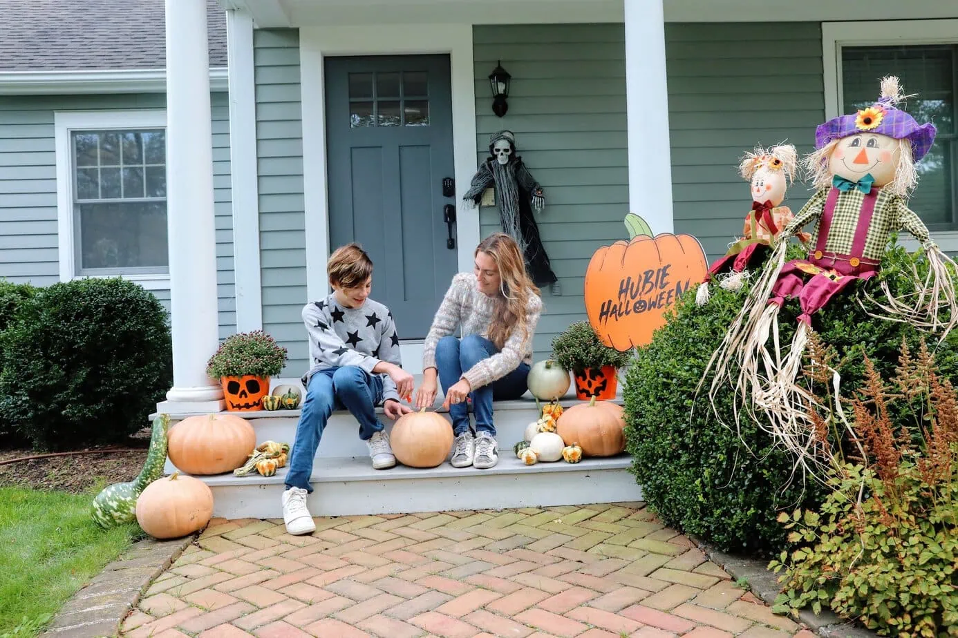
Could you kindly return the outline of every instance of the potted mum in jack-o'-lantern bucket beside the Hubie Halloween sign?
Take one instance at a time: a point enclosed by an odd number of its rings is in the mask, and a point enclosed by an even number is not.
[[[552,340],[552,352],[559,365],[572,370],[576,398],[615,398],[619,368],[628,362],[628,353],[599,341],[588,321],[576,321]]]

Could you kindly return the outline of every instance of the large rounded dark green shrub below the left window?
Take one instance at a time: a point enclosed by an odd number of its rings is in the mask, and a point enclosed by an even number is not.
[[[122,440],[172,381],[166,310],[119,278],[38,290],[0,333],[0,351],[0,418],[41,449]]]

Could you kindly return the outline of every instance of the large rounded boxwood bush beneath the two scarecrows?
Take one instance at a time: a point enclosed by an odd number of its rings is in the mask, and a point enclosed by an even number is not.
[[[788,254],[802,256],[798,246]],[[908,284],[897,275],[913,263],[924,275],[923,260],[890,249],[881,275],[864,285],[877,291],[878,280],[887,278],[893,292],[905,292]],[[755,423],[742,418],[741,432],[724,425],[734,424],[731,387],[716,400],[723,423],[709,403],[711,377],[696,397],[705,365],[747,293],[711,288],[706,306],[696,305],[695,289],[679,299],[652,342],[636,351],[624,387],[627,450],[645,498],[665,523],[724,551],[767,554],[787,544],[787,531],[776,521],[779,512],[817,509],[825,491],[803,480],[801,472],[793,474],[793,458]],[[789,302],[779,314],[783,347],[794,334],[797,305]],[[894,376],[902,339],[916,352],[923,334],[905,323],[869,317],[854,289],[816,314],[812,325],[838,355],[833,367],[843,388],[860,385],[865,353],[884,378]],[[951,380],[958,377],[956,344],[958,334],[952,332],[936,352],[943,376]]]

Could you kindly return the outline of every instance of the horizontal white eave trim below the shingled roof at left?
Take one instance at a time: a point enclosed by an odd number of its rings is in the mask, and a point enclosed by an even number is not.
[[[210,90],[225,91],[226,76],[226,69],[210,69]],[[0,73],[0,95],[3,96],[166,92],[166,69]]]

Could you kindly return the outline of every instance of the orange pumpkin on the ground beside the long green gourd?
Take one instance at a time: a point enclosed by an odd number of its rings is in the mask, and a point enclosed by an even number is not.
[[[180,539],[213,517],[213,492],[193,476],[159,478],[136,499],[136,521],[154,539]]]

